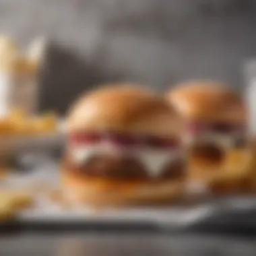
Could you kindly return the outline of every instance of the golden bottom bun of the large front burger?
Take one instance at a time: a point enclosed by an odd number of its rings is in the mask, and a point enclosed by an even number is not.
[[[62,181],[65,199],[79,205],[162,205],[180,200],[185,192],[184,181],[106,181],[68,171],[63,172]]]

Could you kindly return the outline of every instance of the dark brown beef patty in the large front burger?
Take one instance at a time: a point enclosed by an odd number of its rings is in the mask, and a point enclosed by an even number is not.
[[[157,177],[150,177],[144,164],[132,156],[96,155],[80,166],[73,164],[69,159],[65,163],[65,168],[88,177],[110,180],[162,181],[185,177],[185,162],[180,159],[171,160],[160,170]]]

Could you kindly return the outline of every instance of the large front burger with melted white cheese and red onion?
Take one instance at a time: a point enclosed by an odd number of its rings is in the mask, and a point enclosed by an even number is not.
[[[106,86],[69,111],[63,191],[72,203],[167,203],[181,197],[179,116],[136,85]]]

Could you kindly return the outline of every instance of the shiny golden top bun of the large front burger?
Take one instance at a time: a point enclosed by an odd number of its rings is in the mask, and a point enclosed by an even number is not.
[[[106,86],[80,98],[69,113],[68,131],[114,131],[170,137],[179,131],[173,108],[136,84]]]

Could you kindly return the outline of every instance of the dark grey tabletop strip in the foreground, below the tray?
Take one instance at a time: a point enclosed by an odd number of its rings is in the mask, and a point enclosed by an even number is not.
[[[88,232],[24,233],[1,237],[0,255],[9,256],[254,256],[256,238],[205,234]]]

